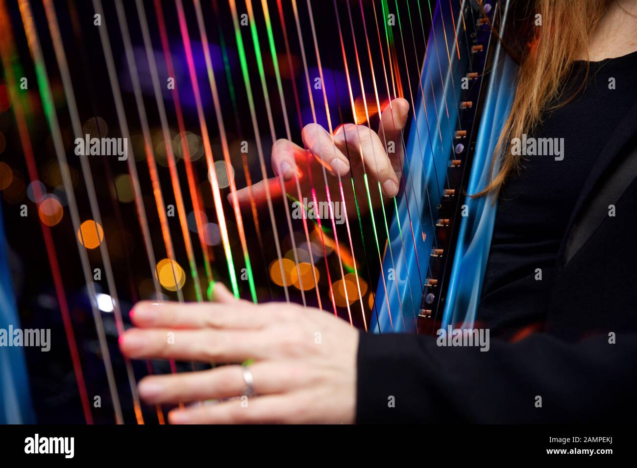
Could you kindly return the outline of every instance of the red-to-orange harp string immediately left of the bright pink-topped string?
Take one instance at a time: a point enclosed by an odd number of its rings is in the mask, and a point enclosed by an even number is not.
[[[162,50],[164,51],[164,60],[166,62],[166,69],[168,70],[168,76],[176,76],[175,75],[175,67],[173,66],[173,58],[170,53],[170,48],[168,44],[168,34],[166,32],[166,24],[164,23],[164,13],[161,8],[161,3],[159,1],[155,1],[155,11],[157,14],[157,25],[159,28],[159,35],[161,37]],[[156,65],[156,64],[155,64]],[[157,74],[157,67],[155,66],[152,69],[152,72]],[[204,236],[204,226],[203,226],[203,213],[204,209],[201,208],[201,198],[199,195],[199,190],[197,188],[198,181],[197,175],[192,169],[192,161],[190,160],[190,147],[187,139],[185,138],[186,129],[183,120],[182,106],[181,101],[179,99],[179,91],[176,87],[173,87],[172,96],[173,103],[175,105],[175,114],[177,117],[177,125],[180,132],[180,143],[182,146],[182,154],[183,160],[186,166],[186,175],[188,179],[188,187],[190,190],[190,199],[192,200],[192,208],[194,211],[195,224],[197,227],[197,236],[199,237],[199,245],[201,246],[201,252],[203,253],[204,259],[204,269],[206,271],[206,280],[208,281],[208,290],[210,290],[211,285],[214,284],[212,269],[210,267],[210,255],[208,253],[208,245],[206,244],[206,239]]]

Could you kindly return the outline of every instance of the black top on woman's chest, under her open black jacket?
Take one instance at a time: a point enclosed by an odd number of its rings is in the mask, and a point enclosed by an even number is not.
[[[552,105],[577,92],[586,64],[576,62]],[[577,197],[603,146],[636,101],[637,52],[589,64],[585,88],[545,113],[529,135],[563,138],[562,155],[523,156],[520,172],[501,192],[476,314],[476,322],[497,336],[510,337],[545,321],[557,252]]]

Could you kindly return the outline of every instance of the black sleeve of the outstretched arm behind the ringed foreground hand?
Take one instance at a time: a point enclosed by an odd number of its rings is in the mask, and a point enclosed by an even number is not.
[[[357,422],[634,422],[637,335],[615,341],[532,334],[492,339],[480,351],[430,336],[361,333]]]

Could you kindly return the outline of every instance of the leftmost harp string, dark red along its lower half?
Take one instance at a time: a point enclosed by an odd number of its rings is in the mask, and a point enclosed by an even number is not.
[[[31,136],[29,134],[29,128],[27,125],[24,108],[22,107],[22,97],[19,96],[17,92],[17,76],[13,74],[15,73],[19,65],[14,62],[15,44],[10,28],[11,26],[9,23],[9,14],[6,10],[6,5],[4,4],[4,0],[0,0],[0,59],[2,60],[4,68],[4,78],[7,83],[8,94],[12,103],[13,115],[18,126],[18,134],[20,135],[20,143],[24,152],[27,164],[27,171],[29,173],[29,179],[32,183],[34,183],[36,181],[39,181],[39,175],[35,162],[33,146],[31,145]],[[13,70],[13,73],[11,72],[11,70]],[[38,184],[34,183],[33,188],[35,198],[36,200],[38,200],[39,208],[40,201],[42,200],[44,194],[41,193]],[[73,372],[75,374],[75,380],[78,385],[80,401],[82,402],[84,419],[87,424],[92,424],[93,415],[90,410],[89,395],[82,371],[82,362],[80,361],[77,341],[75,339],[75,332],[73,331],[71,314],[69,312],[68,302],[66,301],[66,294],[64,293],[64,283],[62,282],[60,264],[57,253],[55,252],[55,245],[51,234],[51,229],[41,220],[40,227],[45,241],[47,257],[54,280],[55,294],[60,306],[62,322],[64,323],[64,332],[66,335],[66,341],[69,346],[69,353],[71,354],[71,362],[73,363]]]

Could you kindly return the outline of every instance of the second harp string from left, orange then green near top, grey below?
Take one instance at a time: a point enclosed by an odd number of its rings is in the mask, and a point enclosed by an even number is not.
[[[118,424],[124,422],[122,416],[122,409],[117,394],[117,385],[115,384],[115,376],[113,374],[112,362],[110,353],[108,351],[108,345],[106,344],[106,334],[104,333],[104,325],[101,315],[97,311],[97,299],[94,283],[90,280],[90,262],[86,250],[83,248],[83,236],[80,230],[80,216],[78,213],[75,194],[73,192],[73,183],[71,181],[71,174],[69,173],[68,164],[66,161],[66,155],[64,154],[64,145],[62,143],[61,132],[57,125],[57,116],[55,115],[55,108],[53,99],[51,97],[51,90],[48,84],[47,72],[45,69],[44,58],[39,46],[39,39],[35,29],[35,25],[32,19],[31,6],[27,0],[20,0],[18,2],[20,7],[20,15],[24,24],[25,34],[27,36],[27,42],[29,43],[29,50],[31,51],[32,59],[36,67],[36,75],[38,79],[38,87],[40,91],[40,97],[43,103],[45,111],[45,117],[52,133],[52,138],[55,146],[55,153],[58,159],[60,172],[62,176],[62,182],[66,191],[68,199],[69,211],[71,212],[71,220],[73,222],[73,229],[79,233],[76,243],[78,246],[78,252],[80,253],[80,262],[82,263],[82,272],[89,291],[89,298],[91,302],[91,309],[96,322],[96,331],[100,342],[101,351],[104,353],[104,365],[106,367],[106,374],[108,378],[109,391],[111,399],[113,401],[113,408],[115,409],[115,419]],[[99,234],[98,234],[99,239]],[[82,241],[82,244],[80,244]],[[136,389],[136,385],[131,388],[132,392]],[[136,412],[137,413],[137,412]],[[138,413],[139,414],[139,413]]]

